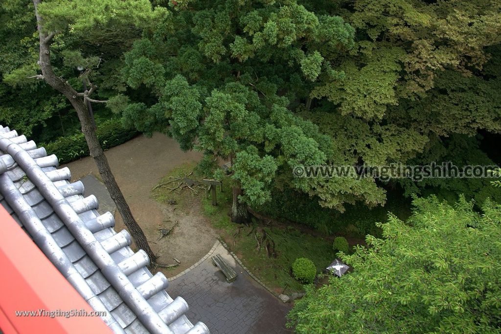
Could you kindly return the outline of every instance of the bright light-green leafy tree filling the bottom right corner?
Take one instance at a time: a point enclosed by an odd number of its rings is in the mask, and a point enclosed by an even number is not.
[[[483,214],[415,198],[407,222],[390,215],[343,260],[354,272],[309,288],[289,314],[299,333],[499,332],[501,206]]]

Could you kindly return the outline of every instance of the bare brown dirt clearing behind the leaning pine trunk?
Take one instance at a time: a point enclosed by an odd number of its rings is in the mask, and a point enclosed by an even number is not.
[[[194,199],[188,212],[175,210],[175,205],[163,205],[153,200],[151,189],[173,168],[201,158],[199,152],[183,152],[177,142],[156,133],[151,138],[143,135],[105,152],[115,179],[129,203],[132,214],[143,229],[152,250],[160,257],[158,262],[181,264],[162,269],[172,277],[203,257],[217,239],[217,232],[201,214],[199,199]],[[94,160],[83,158],[65,165],[70,168],[72,180],[90,173],[100,178]],[[64,167],[64,166],[62,166]],[[122,218],[115,213],[117,231],[125,228]],[[172,234],[158,240],[159,228],[170,228],[178,222]]]

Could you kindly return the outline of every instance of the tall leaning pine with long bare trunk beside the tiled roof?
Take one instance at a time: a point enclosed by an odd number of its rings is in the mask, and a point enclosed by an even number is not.
[[[51,44],[53,39],[61,32],[68,28],[72,31],[80,31],[84,33],[88,29],[92,29],[96,22],[106,24],[107,22],[116,20],[117,23],[128,22],[129,20],[142,20],[155,18],[158,13],[151,11],[151,6],[148,2],[71,2],[64,1],[46,2],[42,4],[41,0],[34,0],[35,16],[38,23],[38,34],[40,41],[40,52],[38,65],[42,70],[41,75],[36,78],[43,79],[52,88],[63,94],[75,108],[78,118],[82,126],[82,132],[89,147],[90,156],[96,162],[99,173],[110,192],[111,198],[115,202],[120,215],[123,218],[125,226],[129,229],[131,236],[136,243],[136,246],[143,249],[152,264],[156,263],[156,255],[151,250],[146,236],[141,227],[137,224],[130,208],[115,181],[111,172],[108,160],[104,155],[103,149],[96,135],[96,126],[89,112],[89,103],[91,102],[106,102],[95,100],[91,95],[96,90],[96,86],[92,85],[88,76],[84,76],[83,80],[88,81],[89,90],[83,93],[77,92],[72,85],[54,72],[51,63]],[[115,13],[115,14],[113,14]],[[162,15],[160,13],[159,15]],[[73,56],[77,61],[90,63],[96,59],[82,59],[78,51],[68,51],[69,56]],[[80,64],[84,67],[89,64]],[[88,66],[89,71],[92,66]],[[86,71],[86,72],[88,72]]]

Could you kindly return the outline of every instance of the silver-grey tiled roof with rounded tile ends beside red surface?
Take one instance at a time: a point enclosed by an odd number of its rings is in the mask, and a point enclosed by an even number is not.
[[[186,301],[172,299],[162,273],[152,275],[143,250],[134,253],[111,213],[99,215],[94,195],[70,183],[55,155],[0,126],[0,204],[117,333],[208,333],[184,315]],[[29,261],[30,259],[26,259]],[[57,288],[57,287],[55,287]]]

